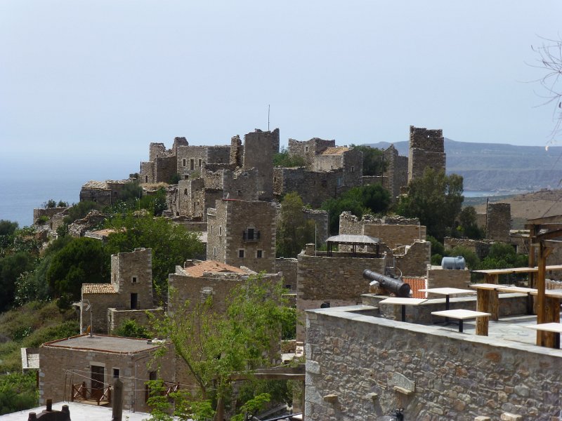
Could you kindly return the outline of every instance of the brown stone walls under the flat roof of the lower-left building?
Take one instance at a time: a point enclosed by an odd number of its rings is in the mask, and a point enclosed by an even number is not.
[[[99,340],[95,336],[93,340]],[[126,339],[126,341],[142,341]],[[91,389],[91,366],[105,367],[105,386],[113,383],[113,370],[119,370],[123,382],[123,408],[150,412],[145,403],[145,379],[151,371],[159,372],[158,378],[167,382],[174,381],[174,359],[171,352],[156,361],[154,351],[129,353],[121,349],[109,352],[95,349],[50,347],[48,342],[39,348],[39,405],[45,405],[46,398],[53,402],[70,401],[72,385],[86,383]],[[154,349],[158,346],[155,345]],[[158,367],[159,366],[159,367]],[[135,377],[137,380],[135,380]]]

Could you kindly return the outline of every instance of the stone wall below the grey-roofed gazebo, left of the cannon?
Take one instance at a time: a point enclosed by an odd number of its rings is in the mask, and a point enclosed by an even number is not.
[[[320,308],[324,302],[331,307],[361,302],[370,282],[363,278],[363,271],[384,274],[386,267],[386,258],[328,257],[325,252],[314,253],[312,248],[297,256],[296,310],[301,322],[296,326],[297,341],[304,340],[305,310]]]

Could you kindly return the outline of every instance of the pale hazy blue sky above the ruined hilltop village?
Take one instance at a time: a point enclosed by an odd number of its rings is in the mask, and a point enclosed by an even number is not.
[[[561,16],[559,0],[1,0],[0,176],[25,162],[112,178],[150,142],[267,130],[268,109],[282,145],[398,142],[413,125],[544,146],[532,46],[562,36]]]

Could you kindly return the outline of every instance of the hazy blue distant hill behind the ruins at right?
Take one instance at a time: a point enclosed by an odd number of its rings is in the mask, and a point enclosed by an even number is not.
[[[391,144],[367,144],[386,149]],[[393,144],[408,156],[408,142]],[[464,178],[466,191],[534,192],[556,189],[562,180],[562,147],[456,142],[445,138],[447,174]]]

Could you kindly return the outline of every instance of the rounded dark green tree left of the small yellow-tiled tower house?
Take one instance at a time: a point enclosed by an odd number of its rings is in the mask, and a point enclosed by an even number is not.
[[[82,283],[109,281],[102,243],[87,237],[73,239],[53,256],[46,280],[61,302],[80,300]]]

